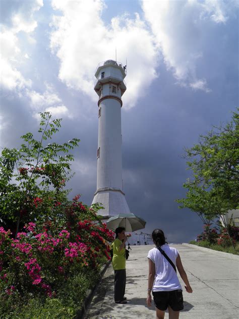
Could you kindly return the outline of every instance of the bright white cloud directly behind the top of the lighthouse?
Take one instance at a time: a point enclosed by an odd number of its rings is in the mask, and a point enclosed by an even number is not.
[[[133,107],[157,77],[157,47],[145,22],[138,14],[133,19],[125,14],[105,25],[101,13],[106,6],[101,0],[53,0],[52,8],[62,13],[53,16],[50,36],[51,49],[60,61],[59,79],[97,100],[95,68],[101,61],[115,59],[116,47],[117,60],[128,60],[124,104]]]

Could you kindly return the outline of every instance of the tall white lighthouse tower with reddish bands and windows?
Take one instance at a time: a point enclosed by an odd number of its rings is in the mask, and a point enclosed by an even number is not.
[[[130,209],[123,192],[122,180],[122,95],[126,91],[126,67],[113,60],[98,65],[95,91],[99,96],[97,149],[97,189],[93,203],[102,203],[99,215],[108,219]]]

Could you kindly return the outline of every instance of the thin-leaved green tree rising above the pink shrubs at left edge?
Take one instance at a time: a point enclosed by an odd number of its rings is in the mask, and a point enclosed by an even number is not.
[[[49,112],[40,116],[39,140],[27,133],[21,137],[25,143],[19,150],[4,148],[0,157],[0,222],[16,236],[26,222],[47,215],[51,205],[45,205],[39,216],[39,204],[67,200],[63,187],[71,178],[70,162],[74,160],[69,150],[80,141],[73,138],[64,144],[47,143],[58,132],[62,119],[51,120]]]

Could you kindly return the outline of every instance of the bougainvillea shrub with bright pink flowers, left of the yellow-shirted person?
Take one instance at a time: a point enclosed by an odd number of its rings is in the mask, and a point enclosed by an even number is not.
[[[64,222],[30,222],[16,239],[0,227],[0,288],[5,299],[26,293],[55,298],[63,282],[89,269],[96,274],[110,259],[113,232],[97,220],[94,207],[78,199],[67,207]],[[83,212],[88,219],[80,219]]]

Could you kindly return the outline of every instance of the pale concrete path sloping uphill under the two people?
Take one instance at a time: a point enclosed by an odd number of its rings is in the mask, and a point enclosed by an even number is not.
[[[184,310],[181,319],[237,319],[239,318],[239,257],[227,258],[220,252],[211,253],[197,247],[171,245],[178,249],[193,293],[184,288]],[[151,319],[155,307],[146,306],[148,259],[154,246],[132,246],[126,262],[128,303],[119,305],[113,299],[113,269],[106,270],[88,308],[87,319]],[[180,278],[181,279],[181,278]],[[181,280],[182,287],[184,283]],[[165,314],[165,319],[168,313]]]

